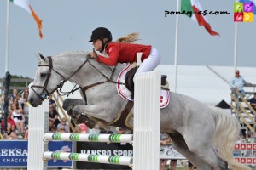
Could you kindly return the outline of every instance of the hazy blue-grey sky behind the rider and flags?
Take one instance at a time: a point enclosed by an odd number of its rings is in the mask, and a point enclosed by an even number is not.
[[[0,77],[5,75],[6,3],[0,2]],[[218,36],[210,36],[204,27],[187,16],[179,17],[178,65],[234,65],[235,23],[234,0],[199,0],[208,11],[230,14],[207,15],[207,21]],[[87,41],[98,26],[112,31],[113,39],[139,31],[138,43],[151,44],[160,51],[161,64],[173,65],[176,15],[165,17],[165,11],[176,11],[176,0],[44,0],[30,1],[43,20],[44,38],[23,8],[10,4],[9,71],[11,74],[34,77],[35,54],[45,56],[71,50],[91,50]],[[238,24],[237,65],[255,66],[256,15],[251,23]]]

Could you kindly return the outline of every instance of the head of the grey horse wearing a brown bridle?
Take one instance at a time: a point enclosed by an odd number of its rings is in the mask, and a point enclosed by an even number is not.
[[[63,77],[53,68],[51,57],[38,56],[38,70],[29,89],[28,101],[36,107],[41,105],[49,94],[54,93]]]

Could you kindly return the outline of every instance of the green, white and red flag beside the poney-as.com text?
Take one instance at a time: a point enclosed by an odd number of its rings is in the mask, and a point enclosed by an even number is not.
[[[203,11],[200,3],[197,0],[182,0],[181,1],[181,12],[185,11],[187,16],[192,20],[198,22],[199,26],[204,26],[206,30],[212,36],[219,36],[218,32],[212,31],[210,24],[207,22],[207,19],[202,14],[199,14],[200,11]]]

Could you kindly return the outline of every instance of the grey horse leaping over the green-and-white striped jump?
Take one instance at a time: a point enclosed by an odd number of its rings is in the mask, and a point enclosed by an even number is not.
[[[99,63],[90,59],[85,51],[65,52],[48,58],[40,54],[28,101],[33,107],[41,105],[49,94],[68,80],[82,87],[80,91],[84,96],[84,99],[65,100],[63,108],[74,115],[73,118],[79,120],[80,116],[91,116],[112,122],[127,103],[119,96],[114,83],[124,68],[124,64],[113,69]],[[160,131],[170,134],[175,150],[199,169],[220,170],[228,169],[228,166],[236,170],[250,169],[233,157],[240,132],[240,125],[233,116],[188,96],[170,93],[170,104],[161,109]]]

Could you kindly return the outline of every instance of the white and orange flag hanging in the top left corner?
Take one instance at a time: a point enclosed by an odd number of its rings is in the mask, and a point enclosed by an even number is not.
[[[32,14],[32,16],[34,17],[34,20],[36,20],[36,22],[38,24],[39,36],[40,36],[40,38],[43,38],[42,20],[39,19],[38,15],[34,12],[32,7],[28,3],[28,0],[9,0],[9,2],[14,3],[17,6],[20,6],[21,8],[24,8],[29,14]]]

